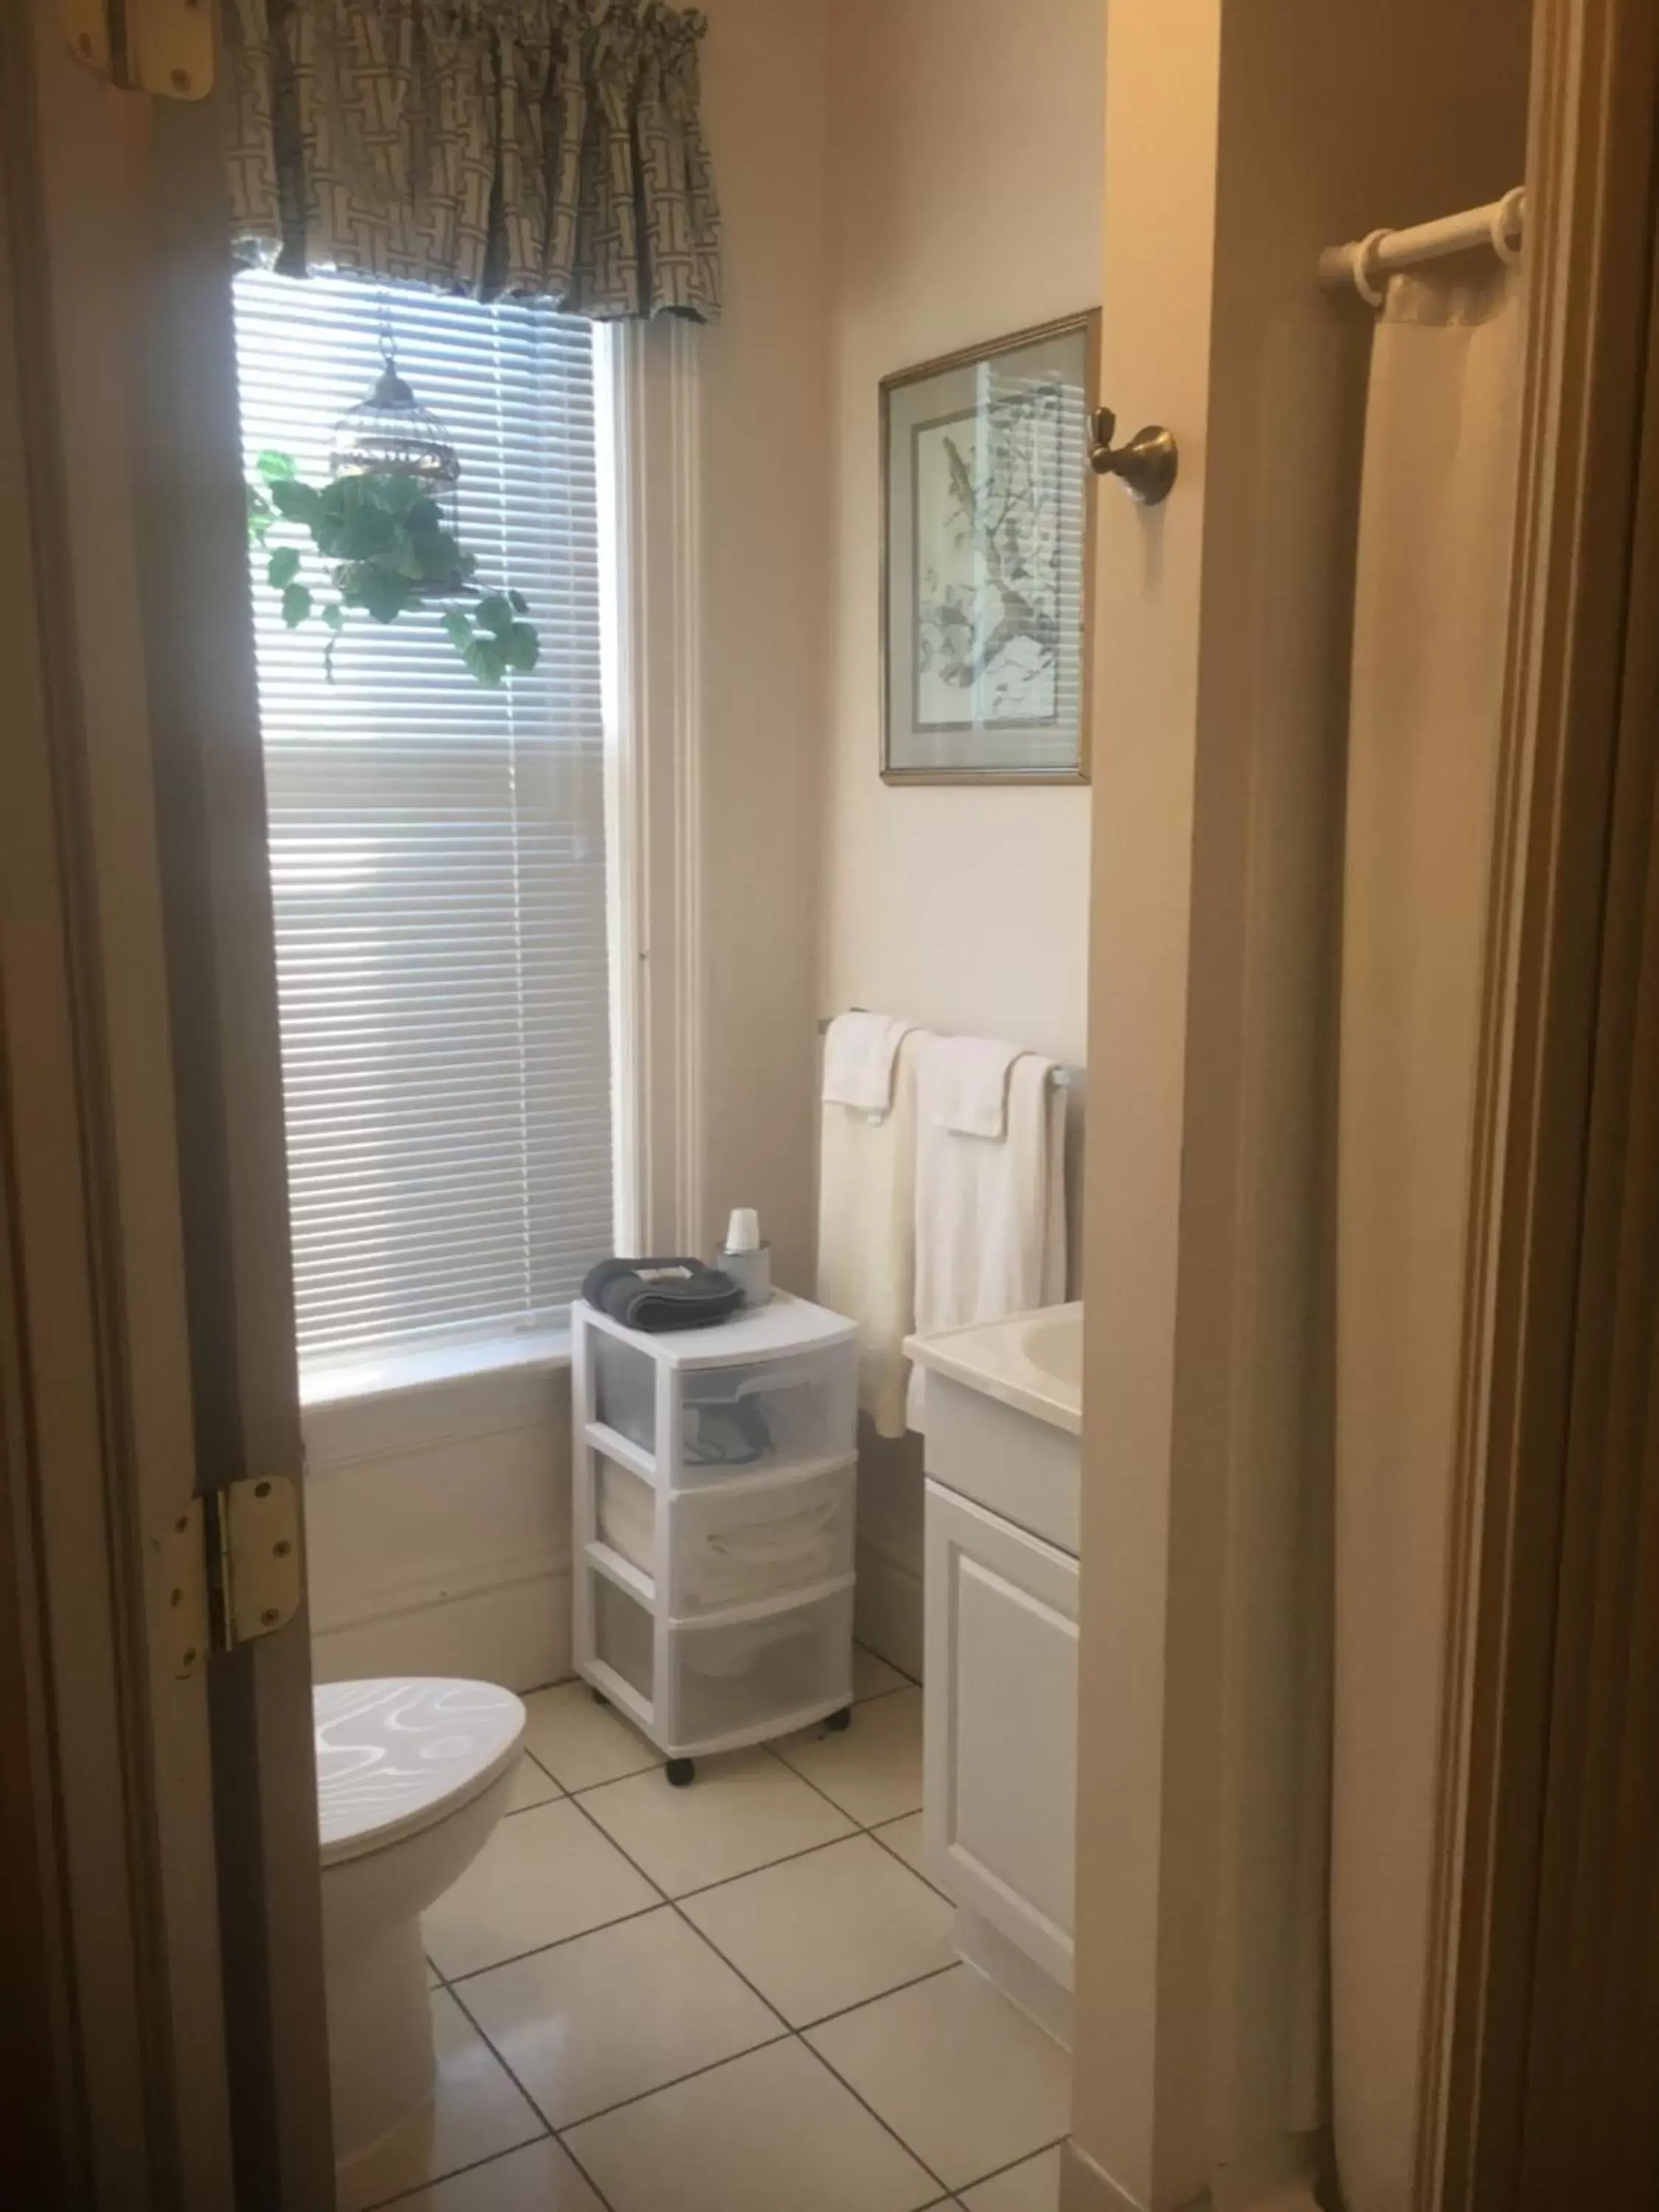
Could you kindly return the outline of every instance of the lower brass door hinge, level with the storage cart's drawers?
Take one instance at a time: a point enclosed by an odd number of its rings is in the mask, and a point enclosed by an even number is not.
[[[299,1484],[248,1475],[204,1491],[153,1546],[173,1674],[195,1674],[208,1652],[228,1652],[299,1613]]]

